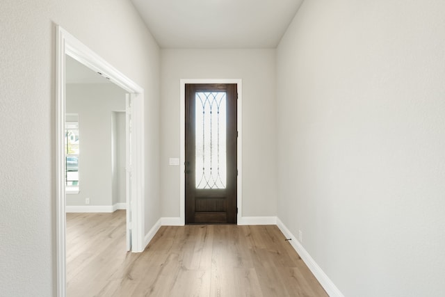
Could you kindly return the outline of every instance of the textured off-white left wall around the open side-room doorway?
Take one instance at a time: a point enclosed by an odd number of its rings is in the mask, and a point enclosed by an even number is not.
[[[159,220],[159,47],[130,1],[2,0],[0,288],[56,294],[56,30],[145,90],[145,230]]]

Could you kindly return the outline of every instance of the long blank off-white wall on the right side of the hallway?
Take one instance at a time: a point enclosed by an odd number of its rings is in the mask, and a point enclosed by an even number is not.
[[[445,1],[305,1],[277,49],[277,214],[344,296],[444,296]]]

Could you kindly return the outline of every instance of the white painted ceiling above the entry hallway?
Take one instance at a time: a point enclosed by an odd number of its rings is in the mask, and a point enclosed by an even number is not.
[[[275,48],[303,0],[131,0],[161,48]]]

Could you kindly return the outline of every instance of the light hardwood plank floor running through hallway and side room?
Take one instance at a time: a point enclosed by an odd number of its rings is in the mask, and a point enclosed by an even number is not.
[[[67,296],[327,296],[277,226],[161,227],[125,252],[125,211],[67,214]]]

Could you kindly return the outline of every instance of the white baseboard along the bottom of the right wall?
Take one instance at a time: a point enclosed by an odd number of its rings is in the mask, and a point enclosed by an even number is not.
[[[297,240],[296,236],[293,236],[293,234],[287,229],[287,227],[282,223],[280,218],[277,218],[277,226],[280,228],[281,232],[286,236],[286,238],[290,238],[292,240],[289,241],[291,243],[291,246],[293,247],[296,252],[298,252],[298,255],[300,255],[301,259],[310,271],[314,274],[315,278],[320,282],[321,287],[325,289],[327,295],[330,297],[344,297],[343,294],[341,294],[341,291],[335,286],[335,284],[330,280],[330,278],[327,277],[326,273],[316,264],[314,259],[312,259],[311,255],[309,255],[309,252],[303,248],[301,243]]]

